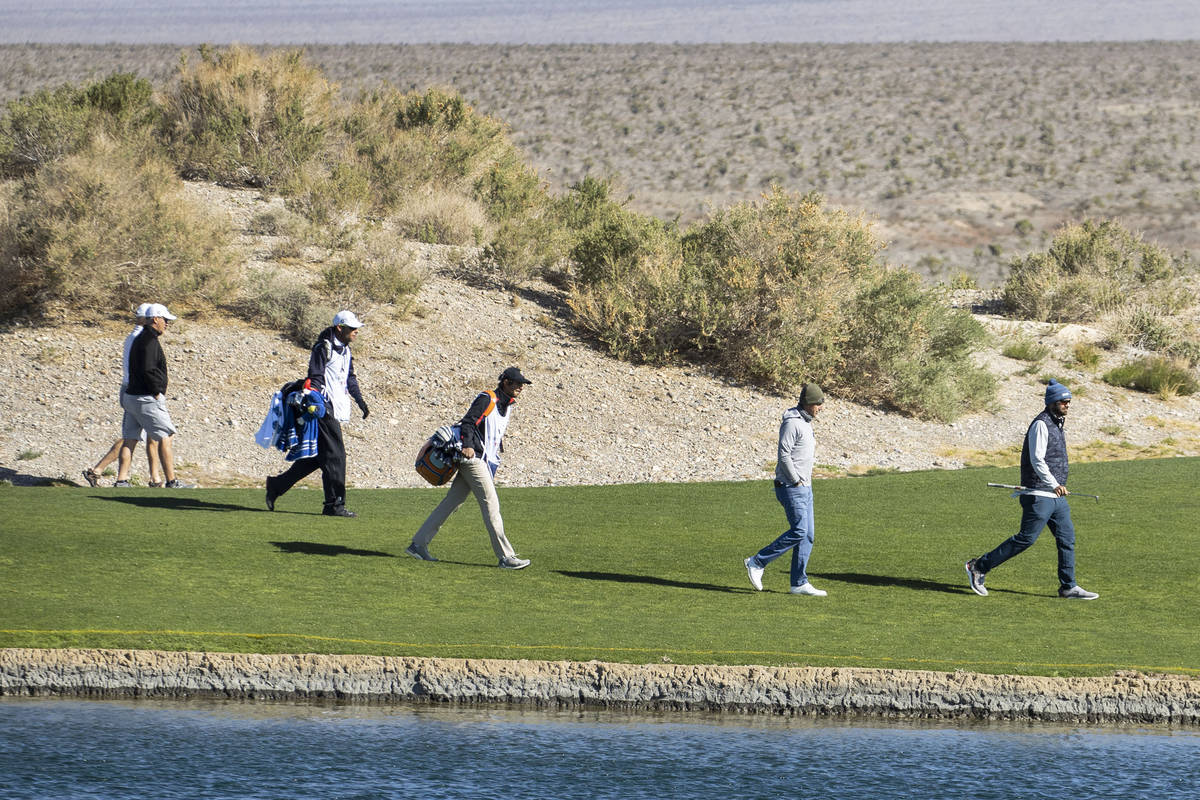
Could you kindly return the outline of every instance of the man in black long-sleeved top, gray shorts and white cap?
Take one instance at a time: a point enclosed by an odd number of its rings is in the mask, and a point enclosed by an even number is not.
[[[167,356],[158,337],[175,315],[162,303],[151,303],[145,311],[145,327],[130,347],[130,383],[121,395],[126,415],[121,421],[121,437],[126,441],[146,433],[146,447],[158,446],[158,461],[168,489],[194,488],[175,477],[175,455],[172,438],[175,426],[167,411]]]

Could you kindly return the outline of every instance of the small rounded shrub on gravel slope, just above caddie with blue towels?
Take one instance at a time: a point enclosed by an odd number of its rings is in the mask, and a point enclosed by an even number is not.
[[[388,303],[407,311],[424,282],[425,272],[406,242],[371,231],[325,267],[317,288],[343,308]]]

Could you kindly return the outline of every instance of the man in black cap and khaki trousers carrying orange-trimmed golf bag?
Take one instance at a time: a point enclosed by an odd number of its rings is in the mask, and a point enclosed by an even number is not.
[[[529,559],[520,558],[504,535],[504,519],[500,518],[500,500],[496,494],[493,476],[500,467],[504,432],[512,419],[512,404],[517,402],[526,384],[532,383],[520,369],[509,367],[500,373],[496,391],[480,392],[475,396],[475,401],[458,423],[463,455],[458,473],[450,483],[445,498],[413,536],[413,542],[404,549],[406,553],[422,561],[437,561],[430,555],[430,542],[467,495],[474,494],[484,515],[487,536],[492,540],[492,551],[499,559],[499,566],[505,570],[523,570],[529,566]]]

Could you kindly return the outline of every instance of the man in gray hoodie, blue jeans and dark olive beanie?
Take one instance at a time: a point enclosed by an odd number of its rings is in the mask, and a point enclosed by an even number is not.
[[[792,551],[793,595],[824,597],[826,593],[809,583],[805,572],[812,553],[812,457],[816,440],[812,420],[821,411],[824,393],[816,384],[804,384],[796,408],[784,411],[779,426],[779,459],[775,465],[775,499],[787,515],[787,530],[779,539],[745,560],[750,585],[762,591],[762,573],[767,565]]]

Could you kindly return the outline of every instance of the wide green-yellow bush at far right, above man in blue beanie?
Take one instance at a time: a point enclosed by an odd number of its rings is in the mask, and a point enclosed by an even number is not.
[[[1193,271],[1189,260],[1111,219],[1086,221],[1060,229],[1046,252],[1010,263],[1004,303],[1014,317],[1061,323],[1094,320],[1130,302],[1172,313],[1195,302],[1182,279]]]

